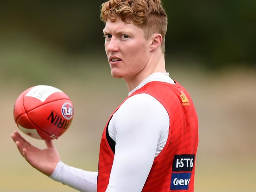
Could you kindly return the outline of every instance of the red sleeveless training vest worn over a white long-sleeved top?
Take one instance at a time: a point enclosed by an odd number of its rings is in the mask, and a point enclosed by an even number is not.
[[[165,107],[170,118],[167,143],[154,159],[142,192],[193,192],[198,146],[198,118],[191,97],[177,82],[174,85],[152,81],[129,97],[140,93],[147,93],[156,98]],[[108,123],[100,142],[97,192],[106,191],[114,159],[114,153],[106,138]]]

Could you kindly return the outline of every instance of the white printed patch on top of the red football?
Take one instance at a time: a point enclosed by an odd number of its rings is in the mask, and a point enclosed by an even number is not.
[[[61,90],[48,86],[48,85],[37,85],[30,89],[30,91],[26,94],[26,97],[34,97],[39,99],[41,102],[45,102],[45,100],[56,92],[62,92]]]

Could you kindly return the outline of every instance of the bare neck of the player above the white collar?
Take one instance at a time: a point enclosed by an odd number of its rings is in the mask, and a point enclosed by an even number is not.
[[[156,72],[166,73],[164,54],[160,54],[158,57],[152,54],[147,66],[141,72],[132,78],[124,78],[129,92],[137,87],[145,78]]]

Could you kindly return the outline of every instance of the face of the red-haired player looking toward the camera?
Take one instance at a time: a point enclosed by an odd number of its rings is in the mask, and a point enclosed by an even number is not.
[[[119,18],[116,22],[108,20],[103,32],[112,76],[127,82],[143,72],[150,57],[150,41],[145,39],[143,29]]]

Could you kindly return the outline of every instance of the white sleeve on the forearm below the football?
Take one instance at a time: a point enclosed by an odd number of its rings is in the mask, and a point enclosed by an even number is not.
[[[50,178],[81,192],[97,191],[98,172],[88,172],[59,161]]]

